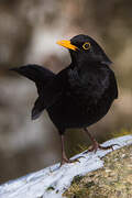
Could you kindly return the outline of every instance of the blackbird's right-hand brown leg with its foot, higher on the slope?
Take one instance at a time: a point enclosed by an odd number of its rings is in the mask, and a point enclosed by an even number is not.
[[[109,146],[101,146],[97,141],[96,139],[91,135],[91,133],[87,130],[87,128],[84,129],[84,131],[88,134],[89,139],[91,140],[92,142],[92,147],[89,148],[88,151],[86,151],[85,153],[88,153],[88,152],[92,152],[95,151],[95,153],[97,152],[98,148],[100,150],[112,150],[113,151],[113,146],[114,145],[119,145],[119,144],[111,144]]]

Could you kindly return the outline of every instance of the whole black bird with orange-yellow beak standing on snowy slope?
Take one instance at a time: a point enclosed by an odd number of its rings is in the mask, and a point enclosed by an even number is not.
[[[112,62],[94,38],[80,34],[57,44],[68,48],[72,57],[70,65],[58,74],[38,65],[12,70],[35,82],[38,98],[32,109],[32,120],[47,110],[61,135],[64,164],[74,162],[67,158],[64,146],[64,134],[69,128],[82,128],[87,132],[92,142],[90,151],[112,148],[114,144],[101,146],[87,127],[107,114],[118,98],[118,87],[114,73],[109,67]]]

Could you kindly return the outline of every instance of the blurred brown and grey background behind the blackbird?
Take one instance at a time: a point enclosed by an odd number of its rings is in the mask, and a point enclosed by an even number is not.
[[[119,84],[119,99],[89,130],[100,142],[131,133],[132,1],[1,0],[0,184],[61,160],[59,136],[47,113],[31,121],[35,85],[9,68],[35,63],[58,73],[70,57],[56,41],[80,33],[106,50]],[[88,145],[80,130],[67,131],[68,156]]]

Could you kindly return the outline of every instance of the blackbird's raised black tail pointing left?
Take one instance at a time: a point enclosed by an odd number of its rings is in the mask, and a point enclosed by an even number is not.
[[[54,79],[55,74],[48,70],[45,67],[38,65],[26,65],[21,67],[14,67],[10,70],[14,70],[22,76],[33,80],[36,85],[37,92],[41,95],[45,85],[50,82],[50,80]]]

